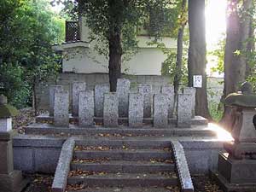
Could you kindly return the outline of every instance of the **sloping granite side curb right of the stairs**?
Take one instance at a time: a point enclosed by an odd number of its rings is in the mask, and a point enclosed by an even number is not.
[[[172,141],[172,151],[177,166],[182,192],[194,192],[194,186],[189,173],[189,166],[181,143]]]

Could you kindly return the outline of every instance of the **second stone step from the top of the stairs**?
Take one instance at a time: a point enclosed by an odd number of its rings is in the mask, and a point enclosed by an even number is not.
[[[110,150],[75,150],[73,157],[83,158],[108,158],[109,160],[171,160],[172,152],[160,149],[110,149]]]

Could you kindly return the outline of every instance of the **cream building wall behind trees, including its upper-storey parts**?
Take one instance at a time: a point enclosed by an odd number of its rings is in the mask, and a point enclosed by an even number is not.
[[[108,58],[99,55],[94,49],[94,42],[88,44],[89,28],[84,19],[79,20],[81,27],[81,41],[86,43],[73,43],[62,45],[64,59],[63,73],[108,73]],[[148,45],[154,38],[139,36],[138,53],[130,61],[122,63],[122,73],[134,75],[160,75],[162,62],[166,55],[155,45]],[[176,41],[172,38],[162,38],[161,42],[167,48],[176,49]]]

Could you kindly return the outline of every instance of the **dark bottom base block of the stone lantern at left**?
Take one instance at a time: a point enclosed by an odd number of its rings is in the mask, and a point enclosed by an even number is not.
[[[28,180],[23,179],[20,171],[10,172],[9,175],[0,174],[1,192],[20,192],[27,184]]]

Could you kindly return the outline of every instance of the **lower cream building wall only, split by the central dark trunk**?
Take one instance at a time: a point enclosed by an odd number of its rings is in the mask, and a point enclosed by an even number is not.
[[[108,73],[108,60],[90,48],[68,49],[63,59],[63,73]],[[139,49],[130,61],[122,63],[122,73],[134,75],[160,75],[165,61],[160,49]]]

